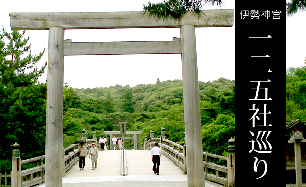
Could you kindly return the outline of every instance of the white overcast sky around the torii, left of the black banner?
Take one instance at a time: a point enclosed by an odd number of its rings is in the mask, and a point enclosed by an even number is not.
[[[6,31],[10,31],[10,12],[142,11],[142,5],[147,2],[148,0],[53,0],[47,3],[41,0],[2,1],[0,25],[3,25]],[[235,8],[234,0],[223,0],[223,3],[221,9]],[[205,9],[218,7],[206,6]],[[196,28],[195,31],[199,81],[213,81],[220,77],[235,80],[235,17],[232,27]],[[38,67],[41,67],[48,56],[48,30],[26,31],[25,34],[30,35],[32,54],[38,54],[46,49],[38,63]],[[72,42],[172,41],[172,37],[180,37],[179,28],[65,30],[65,39],[72,39]],[[302,63],[305,57],[306,55],[301,59]],[[47,71],[39,81],[45,83],[46,78]],[[109,87],[116,84],[134,87],[137,84],[154,84],[157,78],[160,81],[182,80],[181,55],[64,57],[64,82],[73,88]]]

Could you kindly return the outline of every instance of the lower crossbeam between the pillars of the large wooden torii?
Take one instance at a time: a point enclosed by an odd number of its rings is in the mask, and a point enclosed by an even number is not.
[[[181,39],[173,41],[64,42],[64,55],[175,54],[181,53]]]

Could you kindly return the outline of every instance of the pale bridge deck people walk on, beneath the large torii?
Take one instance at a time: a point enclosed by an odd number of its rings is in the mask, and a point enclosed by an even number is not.
[[[166,156],[161,156],[160,175],[152,171],[150,150],[126,150],[127,176],[121,176],[121,150],[99,151],[97,169],[92,170],[91,159],[85,159],[84,170],[79,162],[65,173],[63,187],[84,186],[177,186],[187,187],[187,175]],[[86,183],[86,184],[85,184]],[[44,187],[44,184],[39,187]],[[207,187],[222,185],[206,181]]]

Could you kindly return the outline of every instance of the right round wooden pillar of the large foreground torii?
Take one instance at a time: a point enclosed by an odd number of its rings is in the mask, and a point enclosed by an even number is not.
[[[184,123],[186,133],[187,186],[205,186],[199,80],[196,59],[195,27],[180,27],[182,49]]]

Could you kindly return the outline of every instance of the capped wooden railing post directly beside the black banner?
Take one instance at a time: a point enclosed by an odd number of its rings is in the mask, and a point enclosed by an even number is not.
[[[228,143],[227,154],[227,180],[228,187],[235,187],[235,140],[231,138]]]

